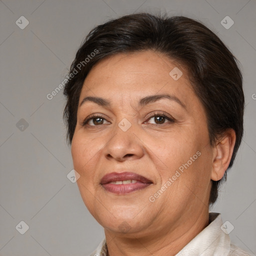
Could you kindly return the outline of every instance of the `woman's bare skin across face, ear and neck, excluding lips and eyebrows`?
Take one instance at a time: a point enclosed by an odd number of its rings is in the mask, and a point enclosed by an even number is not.
[[[169,75],[175,66],[183,73],[178,80]],[[138,105],[142,97],[166,93],[185,107],[167,98]],[[111,102],[106,107],[86,101],[78,107],[71,143],[74,169],[80,174],[77,185],[86,207],[104,227],[108,255],[175,255],[208,225],[211,179],[220,179],[229,164],[234,131],[227,130],[210,145],[206,114],[185,67],[159,52],[104,58],[85,78],[79,103],[85,96]],[[82,126],[93,113],[103,115],[102,122],[91,119]],[[175,120],[157,120],[152,113]],[[131,124],[126,131],[118,126],[123,118]],[[200,156],[149,201],[197,151]],[[153,183],[113,194],[100,184],[112,171],[133,171]]]

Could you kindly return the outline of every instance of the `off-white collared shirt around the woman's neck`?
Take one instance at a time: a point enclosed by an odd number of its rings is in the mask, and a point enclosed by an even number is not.
[[[223,227],[220,228],[222,224],[220,213],[209,212],[209,224],[175,256],[252,256],[230,243],[229,235],[222,230]],[[104,238],[89,256],[106,255],[107,246]]]

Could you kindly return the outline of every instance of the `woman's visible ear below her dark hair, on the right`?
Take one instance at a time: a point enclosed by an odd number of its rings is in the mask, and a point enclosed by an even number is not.
[[[234,144],[235,131],[229,128],[221,135],[214,147],[210,176],[212,180],[217,181],[223,177],[231,160]]]

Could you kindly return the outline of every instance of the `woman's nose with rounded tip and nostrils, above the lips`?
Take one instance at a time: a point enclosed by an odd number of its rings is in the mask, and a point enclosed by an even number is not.
[[[126,159],[138,159],[143,156],[143,142],[139,139],[135,125],[131,125],[126,131],[116,125],[113,133],[107,141],[103,153],[107,159],[124,161]],[[137,134],[136,134],[137,133]]]

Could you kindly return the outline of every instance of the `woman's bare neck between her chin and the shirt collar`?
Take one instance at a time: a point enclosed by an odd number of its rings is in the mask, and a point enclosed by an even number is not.
[[[179,222],[181,224],[176,227],[167,226],[161,232],[142,236],[138,233],[120,236],[105,230],[107,256],[174,256],[208,225],[208,209],[197,216],[186,216]]]

